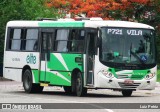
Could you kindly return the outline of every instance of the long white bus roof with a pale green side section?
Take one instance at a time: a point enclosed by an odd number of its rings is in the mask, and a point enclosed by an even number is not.
[[[127,27],[154,29],[152,26],[129,21],[9,21],[7,27]]]

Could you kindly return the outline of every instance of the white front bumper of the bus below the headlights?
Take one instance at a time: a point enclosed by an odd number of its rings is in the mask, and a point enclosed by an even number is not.
[[[110,88],[110,89],[133,89],[133,90],[153,90],[156,86],[156,76],[150,80],[133,80],[133,84],[125,84],[127,79],[109,79],[104,75],[98,77],[98,88]]]

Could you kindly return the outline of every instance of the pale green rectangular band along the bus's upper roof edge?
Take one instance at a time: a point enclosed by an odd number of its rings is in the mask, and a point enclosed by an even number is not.
[[[84,22],[39,22],[40,27],[84,27]]]

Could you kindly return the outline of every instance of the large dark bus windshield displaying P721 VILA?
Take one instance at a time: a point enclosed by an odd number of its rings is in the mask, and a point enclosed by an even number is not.
[[[103,27],[100,60],[114,64],[154,64],[154,42],[154,31],[150,29]]]

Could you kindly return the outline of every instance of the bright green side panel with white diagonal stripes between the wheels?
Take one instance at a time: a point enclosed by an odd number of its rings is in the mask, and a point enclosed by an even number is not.
[[[32,70],[33,82],[71,86],[71,72],[83,72],[83,54],[51,53],[50,60],[41,61],[41,70]]]

